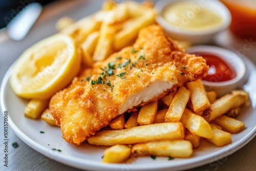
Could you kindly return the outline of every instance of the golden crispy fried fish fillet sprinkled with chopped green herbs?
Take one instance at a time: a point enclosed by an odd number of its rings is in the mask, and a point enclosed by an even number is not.
[[[140,31],[133,47],[114,53],[56,93],[50,111],[62,137],[79,145],[117,115],[158,100],[208,73],[202,57],[186,54],[158,25]]]

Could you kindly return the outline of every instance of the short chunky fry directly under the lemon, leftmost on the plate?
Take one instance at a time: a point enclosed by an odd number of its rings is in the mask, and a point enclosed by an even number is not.
[[[36,100],[32,99],[26,105],[24,114],[31,119],[38,119],[42,113],[48,108],[50,100]]]

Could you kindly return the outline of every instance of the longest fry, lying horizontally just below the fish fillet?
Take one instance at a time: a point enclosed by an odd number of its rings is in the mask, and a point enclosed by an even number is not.
[[[184,139],[184,127],[180,122],[156,123],[131,129],[98,131],[88,137],[91,145],[136,144],[156,140]]]

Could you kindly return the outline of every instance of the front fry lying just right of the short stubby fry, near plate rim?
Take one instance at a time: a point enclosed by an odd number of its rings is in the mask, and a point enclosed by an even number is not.
[[[193,153],[192,144],[186,140],[162,140],[135,144],[132,154],[136,156],[190,157]]]

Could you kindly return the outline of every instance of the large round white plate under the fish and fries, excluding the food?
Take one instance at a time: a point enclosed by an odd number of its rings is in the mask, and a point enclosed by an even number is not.
[[[246,63],[248,82],[243,87],[250,93],[250,102],[243,108],[239,120],[245,122],[245,130],[232,134],[232,143],[223,147],[216,147],[207,141],[202,141],[193,156],[187,159],[175,158],[168,160],[166,157],[150,157],[134,159],[126,164],[104,164],[101,162],[103,146],[92,146],[83,143],[80,146],[66,143],[61,138],[59,127],[48,125],[42,120],[32,120],[24,117],[27,100],[17,97],[10,88],[9,77],[12,67],[7,71],[1,86],[1,108],[9,113],[9,125],[15,134],[37,152],[56,160],[60,163],[80,169],[89,170],[181,170],[222,159],[243,147],[256,134],[256,69],[251,61],[243,58]],[[40,131],[45,132],[41,134]],[[52,148],[61,149],[61,152]],[[26,157],[26,156],[25,156]]]

